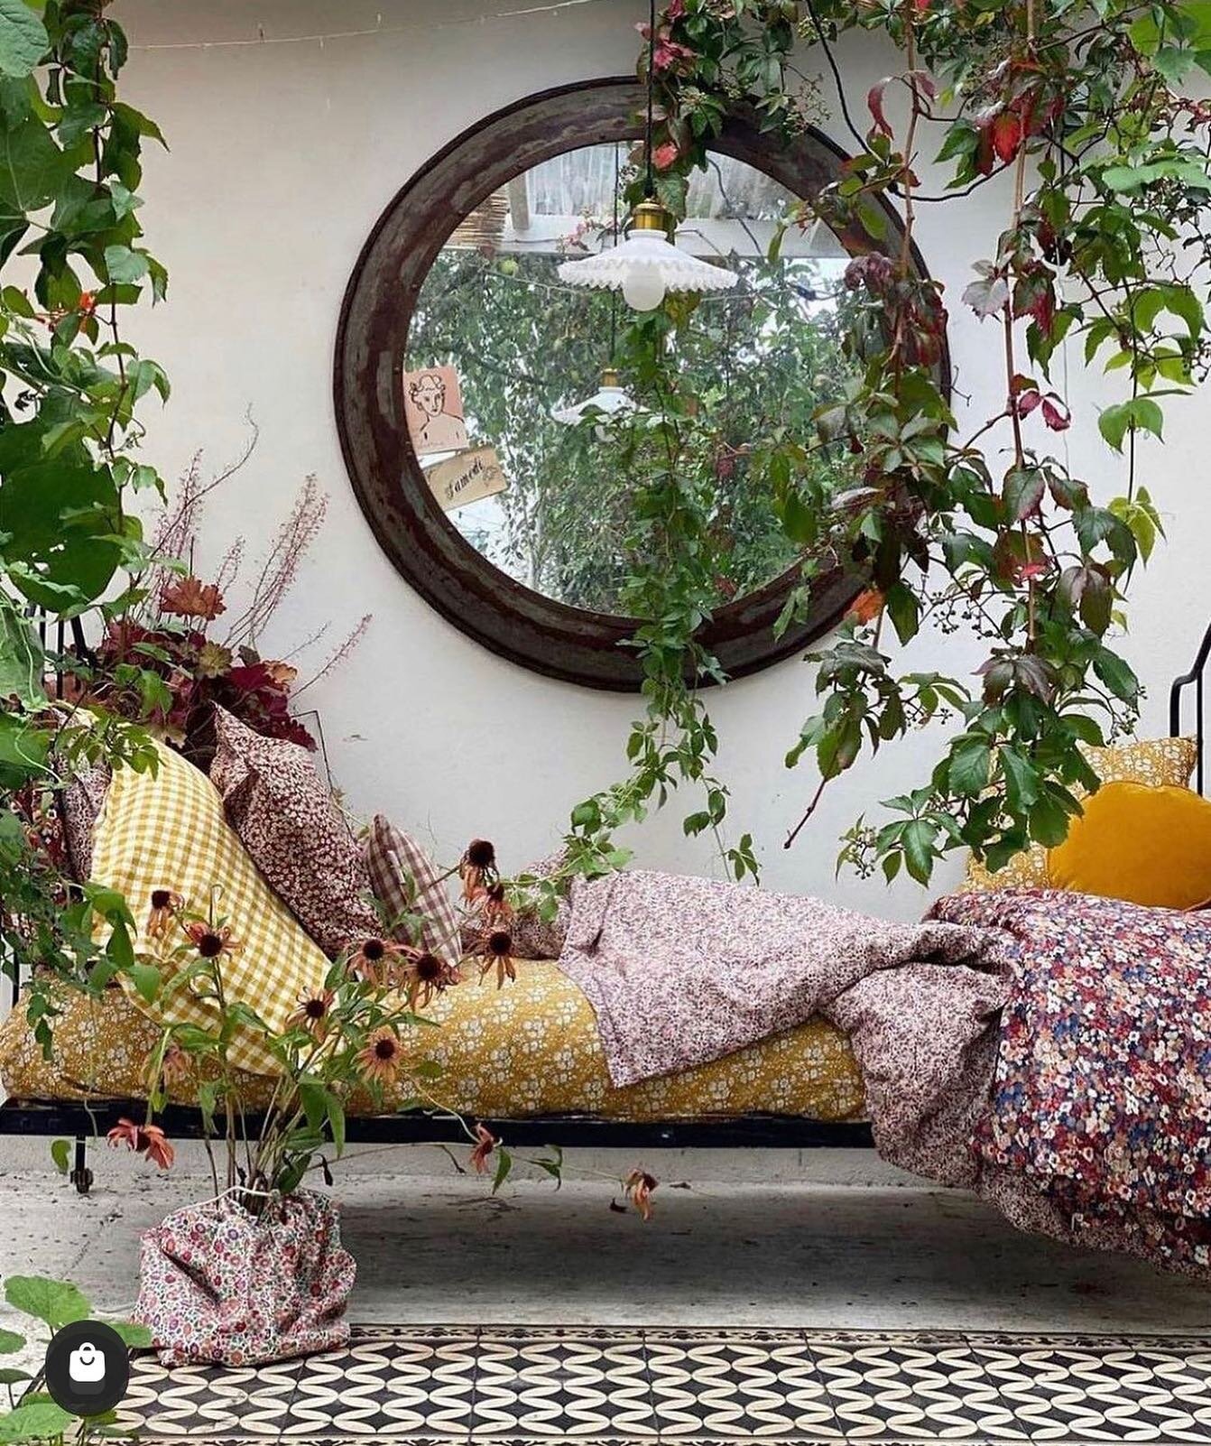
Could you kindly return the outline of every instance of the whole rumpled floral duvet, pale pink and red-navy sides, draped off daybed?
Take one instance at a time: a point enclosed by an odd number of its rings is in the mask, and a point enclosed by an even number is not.
[[[574,888],[559,964],[616,1084],[822,1014],[884,1158],[1211,1278],[1211,914],[1030,889],[896,924],[636,870]]]

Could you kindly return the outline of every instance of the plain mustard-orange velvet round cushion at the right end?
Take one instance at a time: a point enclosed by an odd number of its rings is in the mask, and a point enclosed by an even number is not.
[[[1103,784],[1048,850],[1052,888],[1149,908],[1211,899],[1211,803],[1188,788]]]

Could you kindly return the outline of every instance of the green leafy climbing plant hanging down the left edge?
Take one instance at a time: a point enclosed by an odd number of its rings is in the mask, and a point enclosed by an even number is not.
[[[105,12],[104,0],[0,0],[0,266],[32,275],[0,285],[0,957],[79,982],[113,960],[45,843],[53,792],[87,761],[146,768],[152,755],[137,727],[51,711],[45,680],[82,667],[58,651],[64,628],[117,616],[147,565],[126,499],[159,486],[137,412],[169,390],[121,337],[124,309],[166,289],[137,218],[142,147],[162,137],[117,98],[127,45]],[[113,924],[118,908],[100,912]],[[48,1047],[45,972],[27,1011]]]

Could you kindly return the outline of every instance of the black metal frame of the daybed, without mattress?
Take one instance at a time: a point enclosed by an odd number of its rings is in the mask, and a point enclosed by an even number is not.
[[[43,639],[45,641],[45,639]],[[59,648],[64,636],[59,625]],[[1194,691],[1194,736],[1198,743],[1195,787],[1204,785],[1204,684],[1211,658],[1211,628],[1202,636],[1189,672],[1173,680],[1169,690],[1169,735],[1182,732],[1185,693]],[[20,985],[13,985],[13,1008]],[[90,1103],[9,1099],[0,1103],[0,1135],[68,1137],[75,1141],[71,1180],[81,1194],[92,1184],[88,1168],[88,1141],[100,1138],[123,1116],[142,1111],[137,1099],[98,1099]],[[172,1105],[160,1113],[169,1137],[199,1139],[202,1118],[197,1109]],[[627,1150],[777,1147],[783,1150],[861,1148],[871,1145],[867,1124],[828,1124],[798,1115],[749,1115],[736,1119],[685,1119],[666,1122],[630,1122],[600,1119],[591,1115],[539,1115],[522,1119],[486,1119],[494,1135],[517,1147],[600,1147]],[[249,1116],[247,1126],[259,1129],[260,1118]],[[350,1116],[350,1144],[383,1145],[455,1145],[467,1139],[462,1122],[449,1113],[415,1111],[402,1115]]]

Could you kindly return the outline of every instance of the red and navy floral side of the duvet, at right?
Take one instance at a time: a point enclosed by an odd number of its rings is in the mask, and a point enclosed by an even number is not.
[[[984,1163],[1042,1190],[1069,1238],[1211,1271],[1211,914],[1042,889],[932,912],[1004,931]]]

